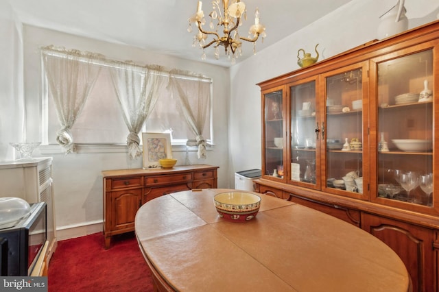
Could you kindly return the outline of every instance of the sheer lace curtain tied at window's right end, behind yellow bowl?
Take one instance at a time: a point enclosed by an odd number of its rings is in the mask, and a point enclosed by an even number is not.
[[[176,75],[182,74],[181,71],[172,70],[169,73],[169,90],[171,90],[174,97],[177,97],[179,109],[182,116],[185,118],[195,139],[187,141],[188,146],[198,146],[198,158],[206,158],[206,139],[203,136],[202,130],[206,124],[206,117],[209,117],[211,90],[210,84],[203,81],[202,75],[194,76],[197,79],[196,86],[183,86],[187,83],[184,78],[178,78]],[[183,73],[188,75],[188,73]],[[193,82],[191,80],[191,82]],[[183,89],[185,88],[185,89]]]

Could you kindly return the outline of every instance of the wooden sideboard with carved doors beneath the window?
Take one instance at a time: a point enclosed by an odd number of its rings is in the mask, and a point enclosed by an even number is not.
[[[178,191],[217,188],[217,169],[211,165],[186,165],[102,171],[105,247],[110,247],[111,236],[134,230],[136,212],[146,202]]]

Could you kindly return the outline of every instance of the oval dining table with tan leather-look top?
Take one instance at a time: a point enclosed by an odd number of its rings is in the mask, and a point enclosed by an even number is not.
[[[156,291],[412,291],[385,243],[345,221],[257,194],[257,217],[220,218],[209,188],[163,195],[137,211],[135,233]]]

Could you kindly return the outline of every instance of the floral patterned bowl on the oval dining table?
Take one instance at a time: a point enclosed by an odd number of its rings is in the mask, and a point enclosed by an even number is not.
[[[213,202],[219,217],[232,222],[245,222],[256,217],[261,197],[254,193],[233,191],[215,195]]]

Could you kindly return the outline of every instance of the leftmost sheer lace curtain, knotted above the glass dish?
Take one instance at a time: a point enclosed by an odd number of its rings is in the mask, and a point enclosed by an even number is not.
[[[69,154],[75,151],[71,127],[80,116],[99,75],[101,67],[93,62],[102,55],[53,46],[43,47],[41,52],[49,97],[54,100],[61,124],[56,141],[64,148],[65,154]]]

